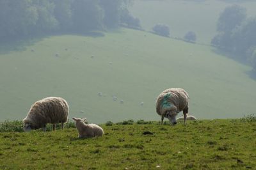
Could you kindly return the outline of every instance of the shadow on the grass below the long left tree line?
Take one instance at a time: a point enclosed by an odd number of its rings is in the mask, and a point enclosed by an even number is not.
[[[77,36],[90,36],[90,37],[102,37],[104,33],[100,31],[88,31],[83,33],[74,33],[74,32],[62,32],[54,33],[51,35],[36,35],[36,36],[20,36],[20,37],[1,37],[0,40],[0,55],[9,54],[10,52],[20,52],[27,50],[31,45],[34,45],[37,42],[49,38],[51,36],[60,36],[60,35],[77,35]]]

